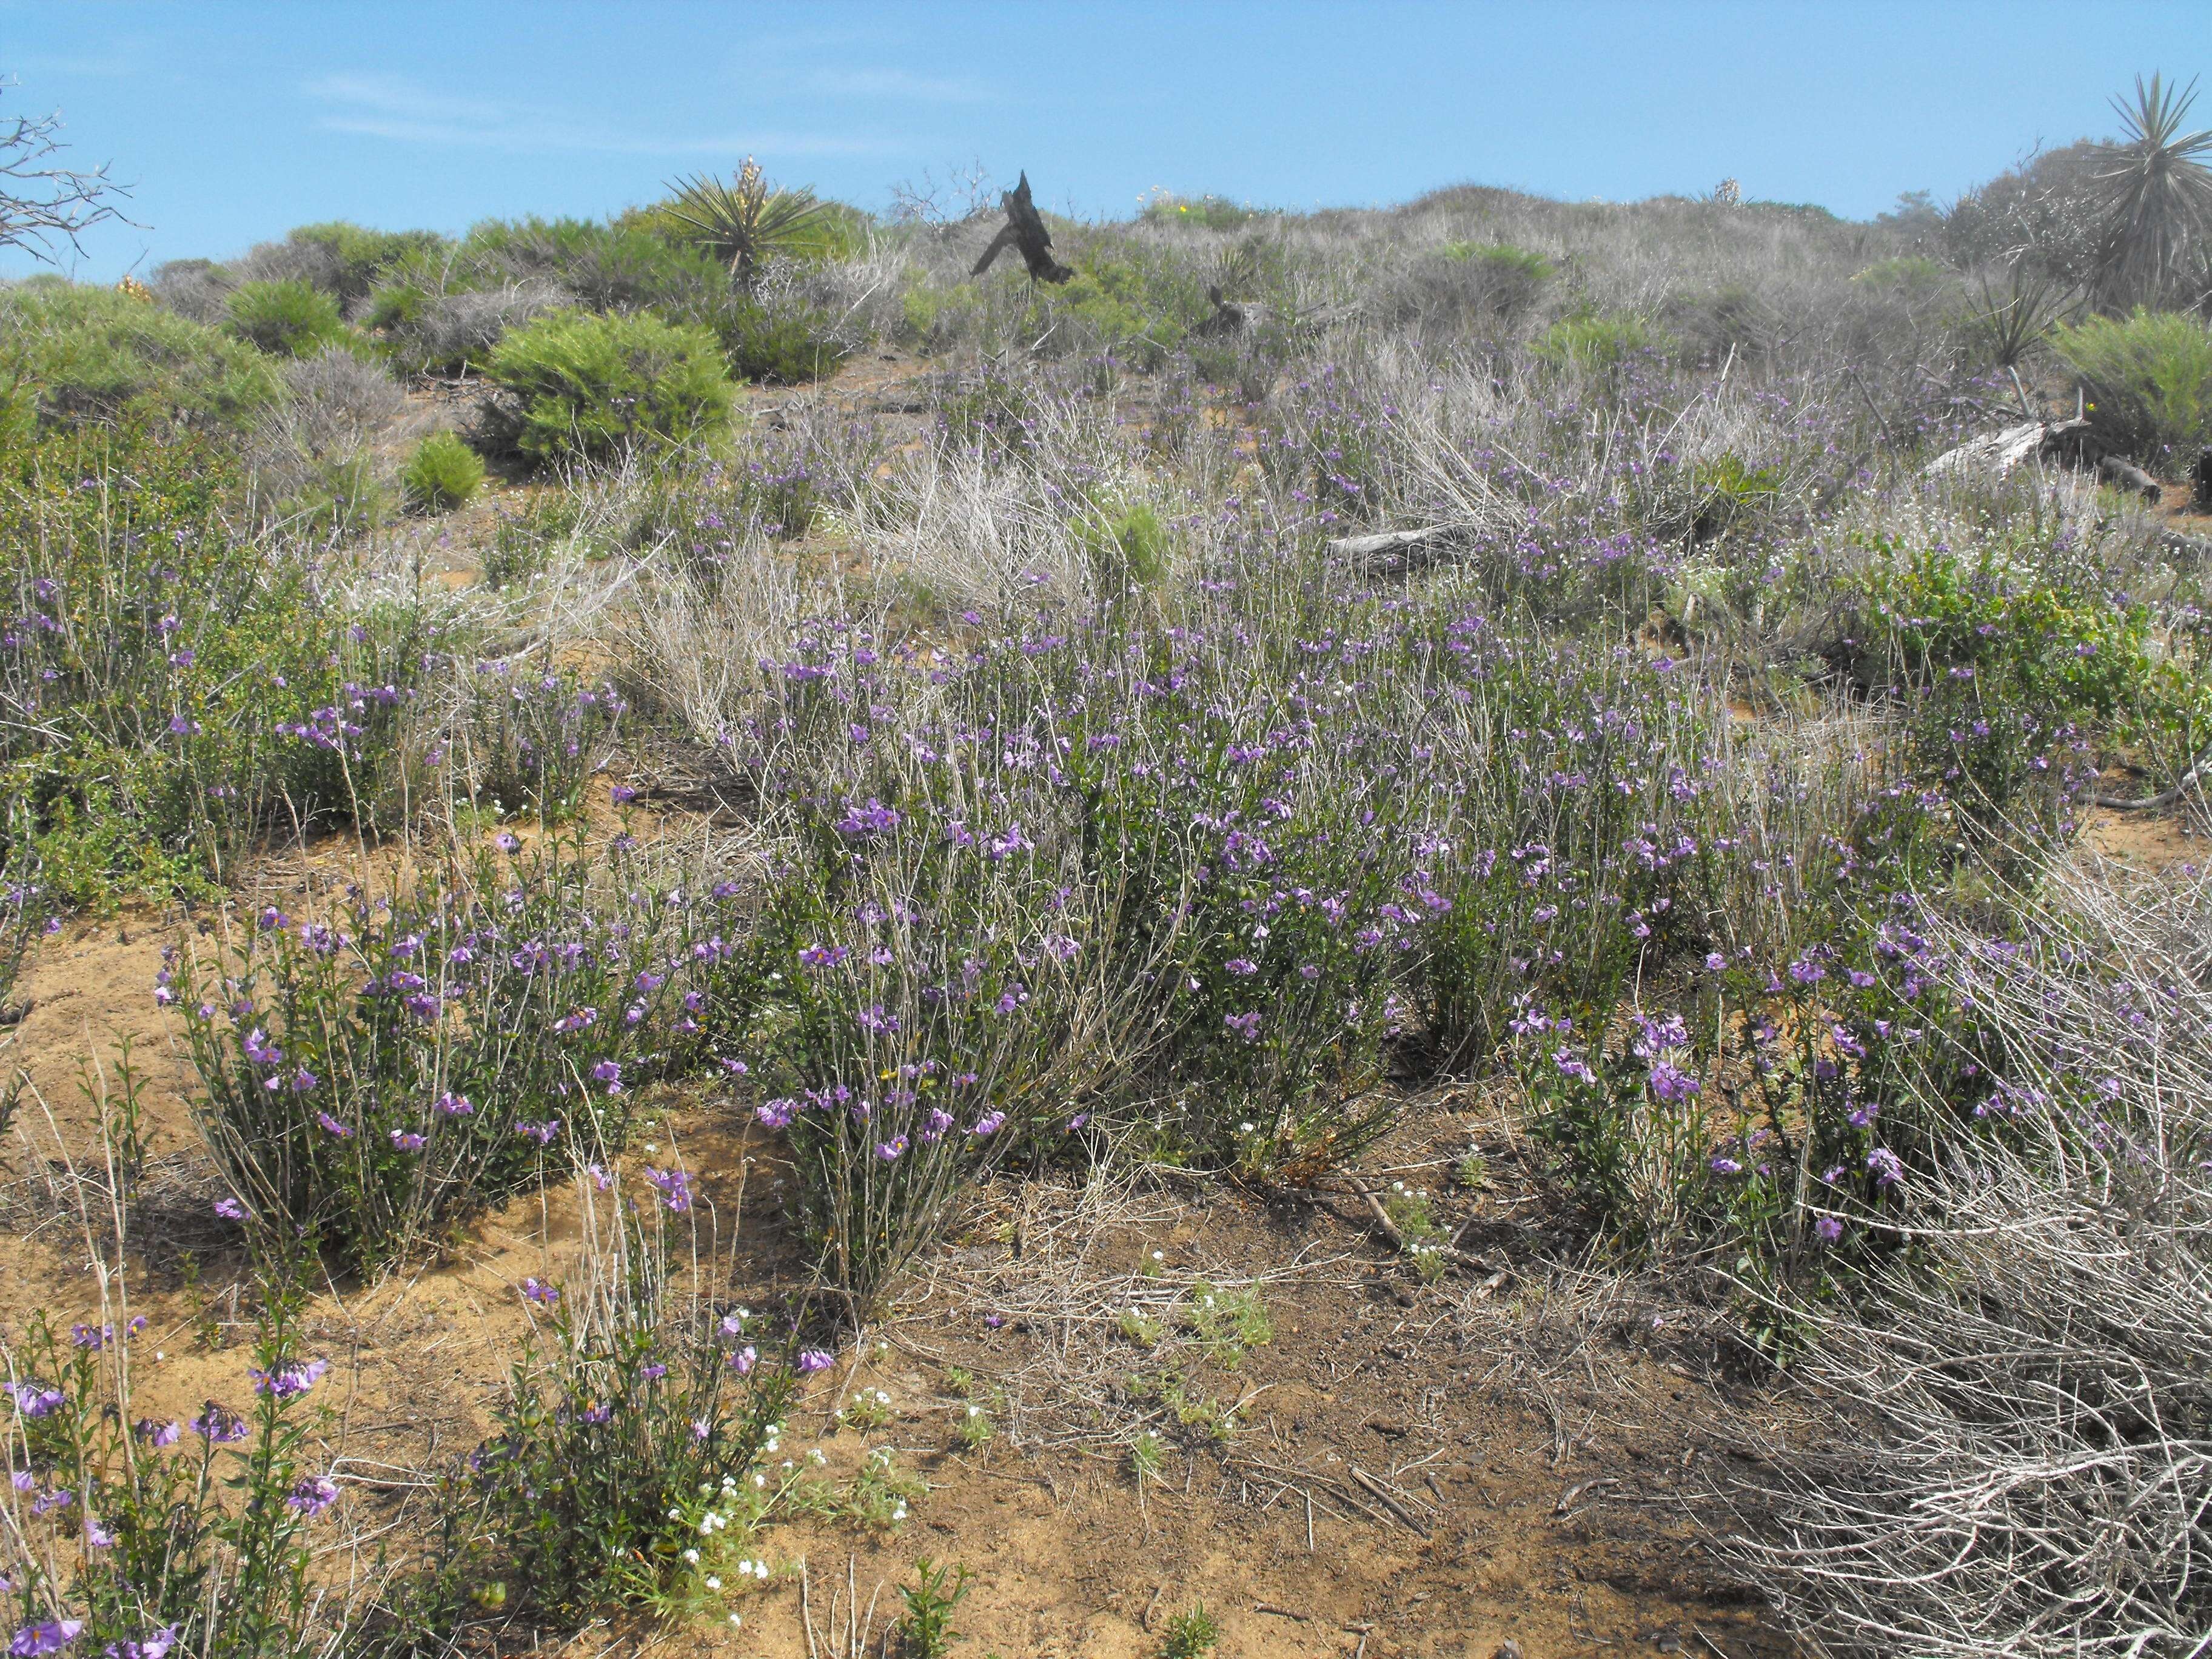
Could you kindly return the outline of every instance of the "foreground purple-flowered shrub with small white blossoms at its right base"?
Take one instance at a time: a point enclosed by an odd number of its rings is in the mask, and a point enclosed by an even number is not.
[[[801,1365],[763,1316],[672,1272],[668,1217],[690,1203],[657,1186],[630,1201],[611,1179],[611,1203],[586,1201],[580,1272],[524,1283],[531,1334],[491,1433],[438,1489],[387,1608],[398,1630],[723,1606],[761,1526],[810,1489],[805,1464],[774,1462]]]

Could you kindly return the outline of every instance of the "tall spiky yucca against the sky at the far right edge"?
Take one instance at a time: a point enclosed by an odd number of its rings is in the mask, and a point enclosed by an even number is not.
[[[2104,234],[2097,292],[2108,305],[2203,305],[2212,299],[2212,128],[2183,133],[2197,82],[2174,91],[2159,75],[2112,100],[2128,142],[2099,173]]]

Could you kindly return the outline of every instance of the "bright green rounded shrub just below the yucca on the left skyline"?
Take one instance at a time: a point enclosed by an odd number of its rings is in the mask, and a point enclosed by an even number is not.
[[[721,347],[657,316],[555,312],[491,352],[495,429],[535,462],[677,445],[730,414]]]

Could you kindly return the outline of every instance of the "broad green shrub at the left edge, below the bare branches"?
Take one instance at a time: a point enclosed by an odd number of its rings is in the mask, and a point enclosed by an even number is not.
[[[243,425],[274,369],[219,330],[108,288],[0,292],[0,436],[82,420]]]

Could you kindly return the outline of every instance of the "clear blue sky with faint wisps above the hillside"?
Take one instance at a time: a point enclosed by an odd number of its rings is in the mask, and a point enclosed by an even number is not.
[[[867,208],[980,159],[1086,217],[1155,188],[1307,208],[1725,175],[1869,217],[2110,133],[2139,71],[2208,60],[2205,0],[0,0],[0,115],[60,108],[71,161],[135,184],[144,228],[88,237],[93,281],[316,219],[604,215],[748,153]]]

